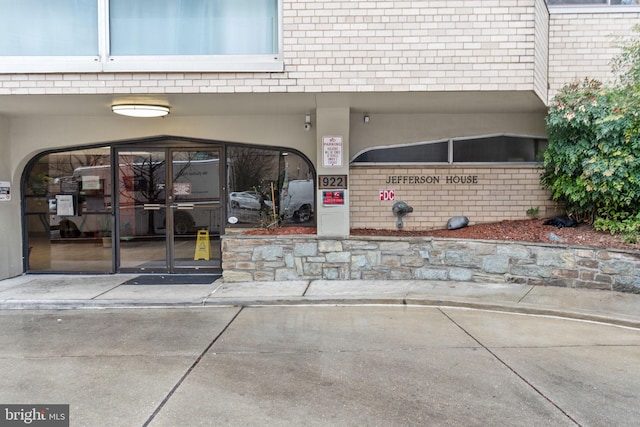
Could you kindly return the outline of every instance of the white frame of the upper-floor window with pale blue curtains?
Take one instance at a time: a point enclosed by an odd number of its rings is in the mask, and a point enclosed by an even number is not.
[[[282,72],[282,0],[278,4],[278,52],[269,55],[111,56],[109,0],[98,2],[98,56],[0,56],[0,73]]]

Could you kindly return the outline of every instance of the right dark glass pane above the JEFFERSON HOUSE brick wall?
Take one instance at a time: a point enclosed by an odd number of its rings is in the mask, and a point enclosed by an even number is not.
[[[455,162],[535,162],[546,146],[541,140],[510,136],[494,136],[453,141]]]

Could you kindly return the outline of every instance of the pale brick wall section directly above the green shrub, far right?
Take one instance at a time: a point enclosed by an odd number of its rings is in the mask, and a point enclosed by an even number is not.
[[[595,78],[610,83],[616,37],[631,34],[637,13],[555,13],[549,29],[549,96],[567,83]]]

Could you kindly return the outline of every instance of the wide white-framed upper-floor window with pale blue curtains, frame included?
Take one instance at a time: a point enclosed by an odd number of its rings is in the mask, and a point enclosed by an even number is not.
[[[280,0],[0,0],[0,72],[282,71]]]

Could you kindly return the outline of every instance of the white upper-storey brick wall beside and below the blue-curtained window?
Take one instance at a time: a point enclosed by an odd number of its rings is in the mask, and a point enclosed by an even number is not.
[[[283,0],[283,73],[5,74],[0,95],[533,90],[540,5]]]

